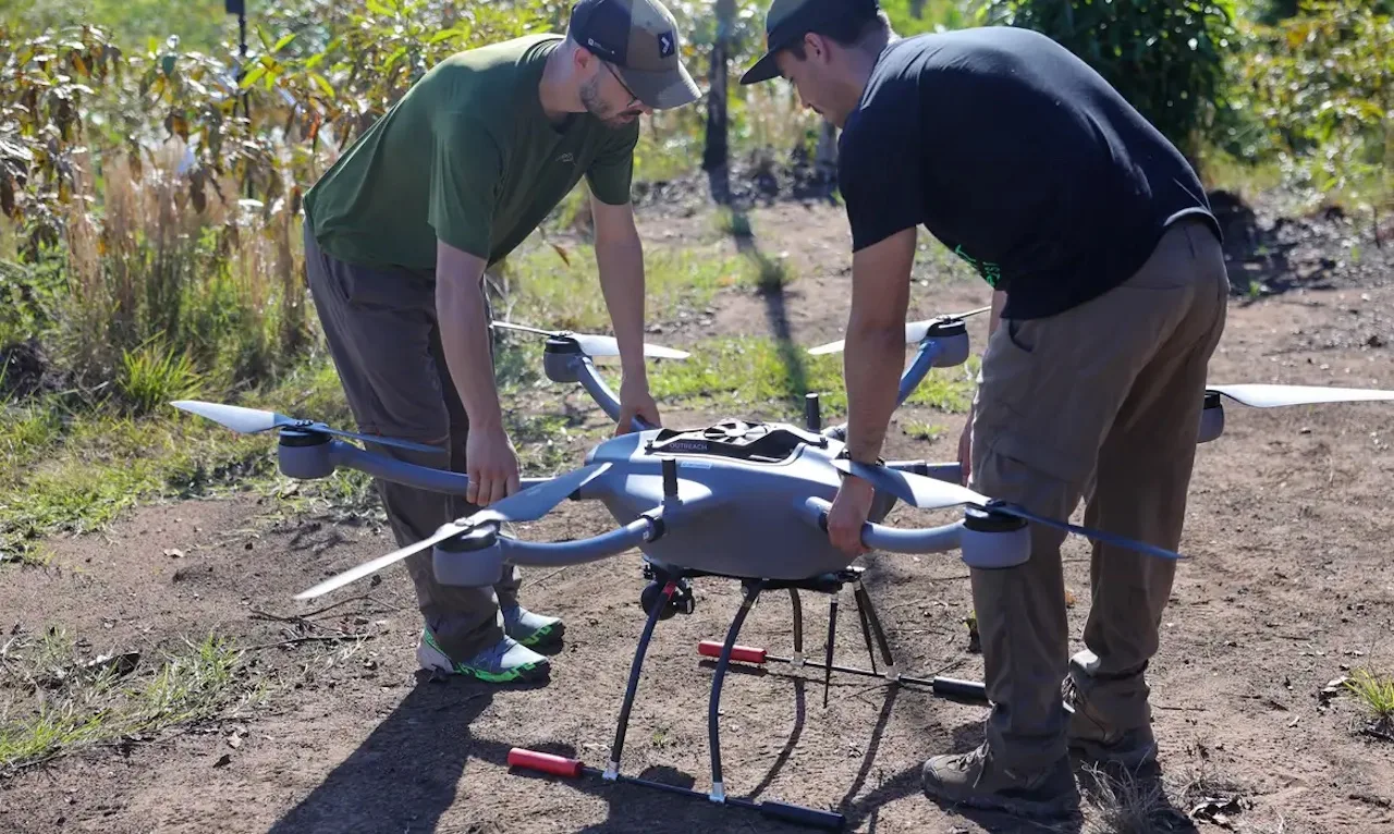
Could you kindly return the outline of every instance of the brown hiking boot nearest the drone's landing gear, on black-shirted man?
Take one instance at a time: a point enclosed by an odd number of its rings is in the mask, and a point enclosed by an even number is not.
[[[931,798],[1034,819],[1066,816],[1079,805],[1069,757],[1044,770],[1018,771],[994,763],[987,742],[967,753],[930,759],[921,781]]]

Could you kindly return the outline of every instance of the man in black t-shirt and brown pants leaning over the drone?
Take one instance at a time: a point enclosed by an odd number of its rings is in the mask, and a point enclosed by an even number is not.
[[[895,407],[923,225],[994,290],[959,442],[969,485],[1057,519],[1083,496],[1086,524],[1177,548],[1230,290],[1185,158],[1036,32],[899,39],[875,0],[775,0],[765,28],[742,82],[783,77],[842,128],[852,457],[877,459]],[[828,513],[849,554],[864,549],[871,498],[849,477]],[[1174,565],[1094,544],[1087,649],[1069,657],[1064,534],[1030,536],[1020,565],[970,563],[993,714],[979,749],[926,763],[924,787],[1050,816],[1078,798],[1068,748],[1133,767],[1156,756],[1143,672]]]

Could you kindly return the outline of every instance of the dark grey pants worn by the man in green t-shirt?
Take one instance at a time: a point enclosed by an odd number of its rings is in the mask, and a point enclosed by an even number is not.
[[[358,431],[439,446],[429,455],[392,446],[375,449],[408,463],[464,471],[468,420],[441,349],[432,276],[339,261],[321,251],[308,223],[305,269]],[[478,509],[463,495],[382,480],[376,488],[397,547]],[[492,589],[471,589],[436,582],[429,549],[407,558],[406,565],[421,615],[452,660],[466,661],[503,639],[499,605],[517,602],[516,568],[509,568]]]

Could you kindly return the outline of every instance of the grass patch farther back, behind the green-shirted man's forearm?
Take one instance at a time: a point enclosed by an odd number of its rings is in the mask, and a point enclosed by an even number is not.
[[[495,317],[546,329],[608,332],[609,311],[590,244],[537,247],[500,272],[505,300],[495,308]],[[760,280],[757,264],[718,248],[644,250],[650,318],[701,310],[719,290],[756,287]]]

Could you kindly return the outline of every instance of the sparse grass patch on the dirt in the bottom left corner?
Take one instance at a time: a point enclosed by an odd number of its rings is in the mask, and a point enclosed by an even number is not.
[[[125,661],[125,662],[121,662]],[[212,718],[261,695],[230,640],[184,640],[148,664],[134,655],[89,665],[66,632],[0,653],[0,774],[92,745]]]

